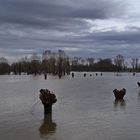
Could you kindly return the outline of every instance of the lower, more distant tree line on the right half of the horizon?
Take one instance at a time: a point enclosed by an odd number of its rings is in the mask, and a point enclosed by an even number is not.
[[[72,71],[102,71],[102,72],[140,72],[140,66],[138,64],[138,58],[131,58],[130,65],[125,61],[122,55],[117,55],[114,60],[110,58],[99,59],[97,62],[94,58],[88,58],[89,62],[86,65],[72,64]],[[130,68],[131,66],[131,68]]]

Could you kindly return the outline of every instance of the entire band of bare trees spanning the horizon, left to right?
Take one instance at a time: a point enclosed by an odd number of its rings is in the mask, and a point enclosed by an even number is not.
[[[87,64],[73,64],[70,62],[68,57],[61,56],[58,57],[51,56],[49,58],[44,58],[43,60],[32,59],[25,60],[22,59],[18,62],[13,62],[9,64],[5,58],[0,58],[0,74],[53,74],[61,77],[65,74],[70,74],[70,71],[102,71],[102,72],[140,72],[139,59],[132,58],[130,61],[131,68],[128,67],[128,63],[122,55],[117,55],[114,60],[99,59],[97,62],[94,58],[88,58]]]

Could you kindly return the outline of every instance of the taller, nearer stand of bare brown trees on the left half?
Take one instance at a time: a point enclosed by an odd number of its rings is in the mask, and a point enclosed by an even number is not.
[[[6,60],[4,58],[4,60]],[[8,64],[8,61],[0,61],[0,74],[10,74],[20,75],[25,74],[53,74],[61,77],[65,74],[70,74],[70,63],[69,58],[59,55],[57,58],[51,56],[48,59],[38,60],[20,60],[19,62],[14,62]]]

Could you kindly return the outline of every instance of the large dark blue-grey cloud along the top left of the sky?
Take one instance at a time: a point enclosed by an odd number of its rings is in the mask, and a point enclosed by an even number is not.
[[[119,4],[111,0],[1,0],[0,23],[50,27],[76,19],[104,19],[116,16]],[[72,21],[70,21],[72,20]],[[74,24],[71,24],[74,25]]]

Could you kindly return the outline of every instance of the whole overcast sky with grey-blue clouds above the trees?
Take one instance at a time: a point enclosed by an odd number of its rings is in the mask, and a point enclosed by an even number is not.
[[[139,57],[139,9],[140,0],[0,0],[0,57]]]

